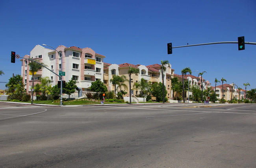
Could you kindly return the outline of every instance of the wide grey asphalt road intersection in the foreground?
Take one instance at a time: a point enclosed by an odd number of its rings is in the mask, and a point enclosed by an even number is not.
[[[0,102],[0,167],[256,167],[256,104]]]

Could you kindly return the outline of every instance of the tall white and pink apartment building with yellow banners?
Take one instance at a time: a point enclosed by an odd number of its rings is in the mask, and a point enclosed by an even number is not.
[[[48,69],[59,74],[59,71],[65,72],[63,80],[67,82],[70,79],[76,80],[76,85],[83,90],[89,90],[91,83],[95,80],[101,80],[103,82],[103,65],[104,55],[95,53],[93,49],[85,47],[79,48],[76,46],[66,47],[58,46],[55,50],[45,48],[37,45],[30,55],[25,55],[24,58],[30,58],[32,60],[39,60],[43,62]],[[30,60],[21,59],[21,75],[23,83],[25,84],[26,92],[32,91],[32,74],[29,73]],[[43,68],[35,74],[34,85],[40,83],[42,77],[49,77],[52,86],[58,84],[60,78],[46,68]]]

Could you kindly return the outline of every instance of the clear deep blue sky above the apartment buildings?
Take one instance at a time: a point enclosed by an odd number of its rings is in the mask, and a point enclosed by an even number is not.
[[[215,44],[174,48],[208,42],[256,42],[255,0],[0,0],[0,89],[21,63],[11,63],[11,51],[23,57],[39,44],[90,47],[111,64],[150,65],[169,60],[176,74],[190,67],[214,86],[223,77],[245,89],[256,88],[256,45]]]

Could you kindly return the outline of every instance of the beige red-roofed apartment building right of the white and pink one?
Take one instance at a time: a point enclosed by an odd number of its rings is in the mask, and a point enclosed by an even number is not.
[[[108,64],[104,63],[104,84],[107,86],[108,90],[114,91],[114,85],[110,82],[110,80],[113,78],[113,75],[124,75],[126,79],[129,79],[128,70],[130,67],[139,69],[138,74],[132,74],[131,75],[131,87],[133,88],[135,82],[141,81],[141,79],[144,79],[145,82],[152,82],[152,84],[156,82],[162,82],[162,75],[160,71],[160,64],[153,64],[149,66],[144,65],[134,65],[129,63],[123,63],[123,64]],[[166,71],[164,72],[164,84],[166,86],[167,90],[167,98],[171,99],[171,78],[173,78],[174,69],[171,69],[171,64],[166,66]],[[127,94],[125,96],[129,96],[129,82],[126,81],[124,84],[128,86],[127,88],[122,88],[122,90],[126,91]],[[136,93],[132,93],[135,95]]]

